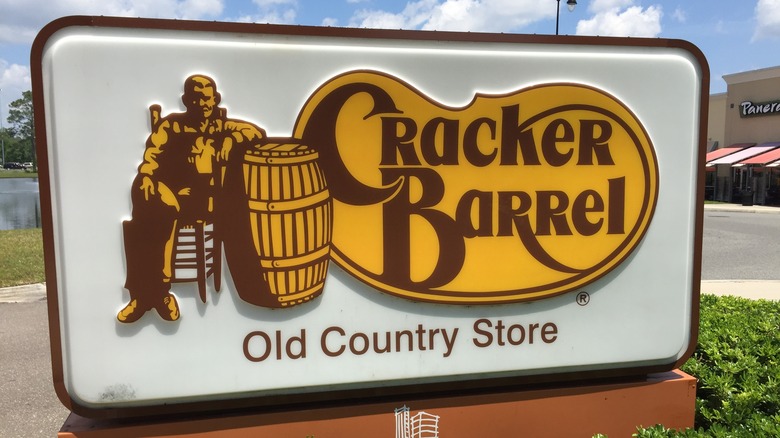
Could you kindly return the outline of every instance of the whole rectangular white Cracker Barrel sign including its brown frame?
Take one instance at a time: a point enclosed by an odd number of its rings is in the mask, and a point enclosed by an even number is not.
[[[687,43],[93,17],[38,60],[55,383],[81,415],[693,351]]]

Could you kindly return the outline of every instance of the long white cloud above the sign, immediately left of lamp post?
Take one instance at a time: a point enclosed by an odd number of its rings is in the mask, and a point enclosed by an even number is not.
[[[392,13],[361,10],[350,26],[390,29],[507,32],[555,16],[555,4],[536,0],[417,0]]]

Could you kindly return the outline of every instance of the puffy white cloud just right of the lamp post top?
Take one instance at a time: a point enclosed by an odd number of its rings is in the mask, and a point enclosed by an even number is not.
[[[590,20],[577,23],[577,35],[657,37],[661,33],[662,16],[661,7],[657,5],[647,9],[631,6],[624,11],[617,7],[606,9]]]

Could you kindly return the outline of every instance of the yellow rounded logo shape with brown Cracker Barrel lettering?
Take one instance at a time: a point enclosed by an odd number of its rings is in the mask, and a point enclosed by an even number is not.
[[[333,197],[333,260],[416,301],[494,304],[593,282],[636,248],[658,197],[641,123],[615,97],[545,84],[443,105],[343,74],[305,104]]]

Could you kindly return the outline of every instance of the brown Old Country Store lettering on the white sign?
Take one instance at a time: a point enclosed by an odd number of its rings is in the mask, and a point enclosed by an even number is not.
[[[319,348],[329,357],[414,351],[435,351],[449,357],[459,332],[458,327],[431,329],[423,324],[417,324],[414,329],[371,333],[348,332],[342,327],[330,326],[319,335]],[[472,332],[471,342],[478,348],[552,344],[558,339],[558,326],[553,322],[511,323],[482,318],[474,321]],[[308,340],[305,328],[295,334],[258,330],[244,338],[244,356],[252,362],[305,359],[309,352]]]

